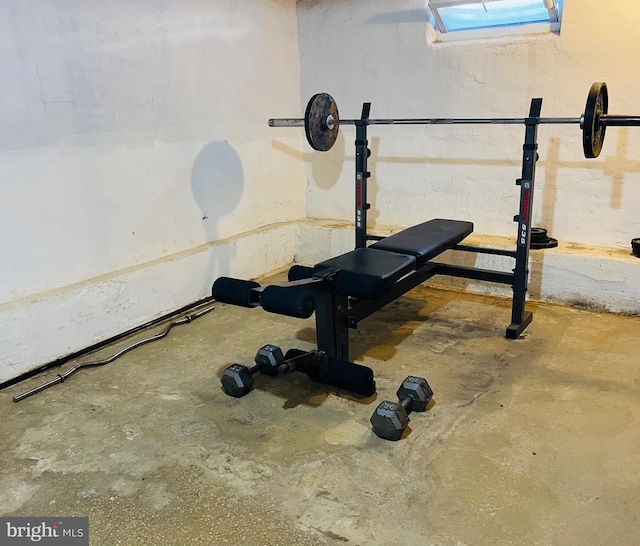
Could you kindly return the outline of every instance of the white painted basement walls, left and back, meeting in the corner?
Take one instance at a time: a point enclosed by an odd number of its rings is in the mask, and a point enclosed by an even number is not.
[[[605,80],[612,112],[640,106],[631,1],[605,15],[599,1],[567,0],[561,36],[444,45],[428,43],[424,0],[3,7],[0,381],[203,297],[219,275],[346,250],[339,222],[325,244],[324,228],[299,220],[352,218],[353,130],[321,154],[302,131],[266,125],[299,117],[315,92],[331,93],[343,117],[365,100],[375,117],[522,117],[534,96],[545,115],[574,117]],[[461,218],[478,236],[512,236],[522,136],[372,128],[372,223]],[[606,280],[596,303],[623,302],[638,268],[626,259],[605,274],[606,260],[640,236],[640,131],[610,129],[591,161],[576,126],[543,127],[539,141],[535,223],[562,245],[605,250],[588,267],[571,252],[538,258],[546,279],[534,296],[549,286],[547,299],[576,299]],[[637,290],[629,301],[612,310],[640,311]]]

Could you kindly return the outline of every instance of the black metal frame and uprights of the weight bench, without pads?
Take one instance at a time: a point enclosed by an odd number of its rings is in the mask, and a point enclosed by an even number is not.
[[[380,241],[384,237],[372,235],[367,231],[367,212],[370,204],[367,202],[367,180],[371,176],[367,170],[367,160],[370,150],[367,141],[367,123],[370,103],[362,107],[360,120],[355,120],[355,248],[368,247],[370,241]],[[349,358],[349,330],[358,327],[361,320],[369,317],[387,304],[396,300],[409,290],[422,284],[435,275],[461,277],[509,285],[513,289],[511,306],[511,323],[506,329],[506,337],[517,339],[532,320],[532,313],[525,308],[526,294],[529,280],[529,244],[531,241],[531,219],[533,209],[533,191],[535,182],[536,162],[538,161],[537,133],[540,123],[542,99],[532,99],[529,117],[525,120],[525,139],[522,155],[522,174],[516,180],[520,186],[520,206],[514,221],[518,224],[517,242],[515,250],[504,248],[484,248],[464,244],[452,244],[447,247],[459,252],[472,252],[476,254],[493,254],[506,256],[515,260],[512,271],[497,271],[481,269],[478,267],[465,267],[448,263],[426,261],[421,262],[417,269],[399,278],[386,291],[375,300],[358,299],[339,293],[336,290],[336,277],[340,269],[329,267],[318,270],[316,268],[302,267],[302,275],[294,275],[290,270],[290,282],[280,286],[288,286],[293,289],[306,289],[313,292],[315,298],[315,320],[317,351],[311,361],[303,366],[309,377],[315,381],[345,388],[370,396],[375,392],[373,371],[370,368],[354,364]],[[461,241],[461,239],[458,239]],[[441,252],[442,250],[439,250]],[[297,280],[296,280],[297,279]],[[241,281],[242,282],[242,281]],[[246,307],[255,307],[261,304],[263,288],[259,285],[249,287],[247,293],[240,298],[234,297],[236,303]],[[265,292],[266,294],[266,292]],[[215,297],[215,284],[214,284]],[[246,301],[245,301],[246,300]],[[288,314],[286,306],[274,312]],[[293,315],[292,315],[293,316]],[[303,317],[304,318],[304,317]],[[296,354],[304,353],[292,349]],[[289,353],[287,353],[289,354]],[[301,366],[301,365],[300,365]],[[308,368],[308,369],[307,369]],[[285,373],[285,372],[283,372]],[[287,372],[288,373],[288,372]]]

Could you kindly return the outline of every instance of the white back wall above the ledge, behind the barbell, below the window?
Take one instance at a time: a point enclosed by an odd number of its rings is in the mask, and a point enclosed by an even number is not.
[[[640,110],[638,2],[567,0],[561,35],[447,44],[429,43],[424,7],[299,1],[303,104],[323,91],[343,118],[359,117],[364,101],[380,118],[524,117],[543,97],[543,115],[579,117],[591,83],[606,81],[611,113]],[[280,115],[297,112],[292,102]],[[354,137],[343,128],[330,152],[305,154],[309,216],[353,217]],[[520,126],[371,127],[372,225],[446,217],[513,236],[523,138]],[[595,160],[584,158],[577,125],[541,127],[539,146],[534,225],[565,243],[630,250],[640,236],[640,131],[610,128]]]

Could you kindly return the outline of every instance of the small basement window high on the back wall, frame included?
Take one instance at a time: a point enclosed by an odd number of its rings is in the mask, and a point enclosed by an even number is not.
[[[562,3],[563,0],[429,0],[429,11],[434,28],[443,36],[463,32],[464,37],[490,37],[557,32]]]

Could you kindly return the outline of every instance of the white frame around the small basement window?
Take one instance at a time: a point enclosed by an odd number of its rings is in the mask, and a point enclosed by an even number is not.
[[[431,23],[442,41],[461,40],[473,37],[508,36],[514,34],[531,34],[541,32],[558,32],[562,18],[563,0],[541,0],[549,13],[549,21],[534,23],[513,23],[499,26],[483,26],[474,29],[454,30],[447,29],[440,8],[451,6],[487,4],[496,0],[428,0],[428,9],[431,14]],[[499,1],[499,0],[497,0]]]

